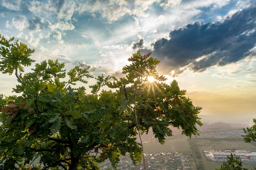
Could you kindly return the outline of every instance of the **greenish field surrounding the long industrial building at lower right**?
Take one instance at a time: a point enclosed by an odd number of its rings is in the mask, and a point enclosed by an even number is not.
[[[222,162],[207,161],[204,157],[203,150],[247,150],[256,151],[256,146],[251,143],[245,143],[242,138],[239,139],[219,139],[219,138],[199,138],[191,139],[189,143],[192,146],[193,155],[197,163],[202,163],[201,167],[205,170],[214,170],[220,168]],[[194,148],[194,149],[193,149]],[[249,170],[256,167],[256,163],[244,162],[243,167]],[[204,167],[204,168],[203,168]]]

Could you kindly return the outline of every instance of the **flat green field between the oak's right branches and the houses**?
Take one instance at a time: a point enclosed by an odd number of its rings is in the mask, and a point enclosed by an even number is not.
[[[191,152],[188,137],[168,139],[164,145],[157,142],[143,143],[144,153]]]

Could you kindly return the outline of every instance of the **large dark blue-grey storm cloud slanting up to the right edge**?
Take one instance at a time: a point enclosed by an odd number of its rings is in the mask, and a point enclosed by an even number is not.
[[[256,44],[256,7],[243,9],[223,22],[188,24],[169,33],[170,40],[159,39],[154,55],[167,58],[174,69],[190,64],[195,72],[211,66],[225,66],[248,55]],[[255,52],[254,52],[255,54]],[[202,59],[198,59],[204,56]],[[197,60],[196,60],[197,59]]]

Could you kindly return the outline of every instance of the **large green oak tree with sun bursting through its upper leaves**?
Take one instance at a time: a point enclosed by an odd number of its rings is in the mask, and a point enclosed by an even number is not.
[[[18,41],[10,44],[12,40],[1,36],[2,73],[22,72],[34,62],[34,50]],[[13,90],[19,96],[0,96],[3,168],[24,169],[38,158],[44,166],[37,169],[96,170],[105,159],[115,167],[127,153],[136,165],[142,161],[142,147],[136,142],[135,115],[140,132],[152,128],[161,144],[172,136],[171,128],[182,129],[188,137],[199,135],[201,108],[193,106],[175,80],[164,82],[156,71],[159,61],[150,54],[133,54],[131,64],[123,67],[125,78],[98,76],[90,94],[74,86],[93,78],[88,69],[76,66],[66,73],[58,60],[36,63],[23,76],[16,74],[19,84]],[[155,81],[148,82],[149,76]],[[100,91],[104,85],[112,90]]]

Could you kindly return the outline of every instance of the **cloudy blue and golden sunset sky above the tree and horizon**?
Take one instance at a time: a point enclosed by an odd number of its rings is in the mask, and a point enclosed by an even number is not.
[[[94,76],[120,77],[133,53],[152,51],[202,114],[256,115],[255,0],[0,0],[0,34],[34,48],[36,62]],[[14,95],[15,75],[0,80]]]

